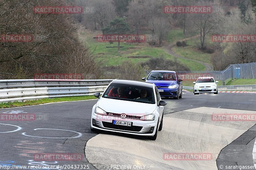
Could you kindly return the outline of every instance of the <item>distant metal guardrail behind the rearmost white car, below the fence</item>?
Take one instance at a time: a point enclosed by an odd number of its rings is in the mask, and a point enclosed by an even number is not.
[[[193,87],[183,86],[183,89],[193,90]],[[218,86],[218,91],[256,91],[256,85],[224,85]]]

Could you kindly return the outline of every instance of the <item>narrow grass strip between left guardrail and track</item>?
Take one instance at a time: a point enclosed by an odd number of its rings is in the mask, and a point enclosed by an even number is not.
[[[46,99],[39,99],[39,100],[29,100],[25,102],[8,102],[8,103],[0,103],[0,108],[12,108],[12,107],[21,107],[21,106],[32,106],[32,105],[39,105],[44,103],[52,103],[52,102],[60,102],[60,101],[77,101],[77,100],[90,100],[96,99],[96,97],[90,96],[74,96],[74,97],[61,97],[61,98],[46,98]]]

